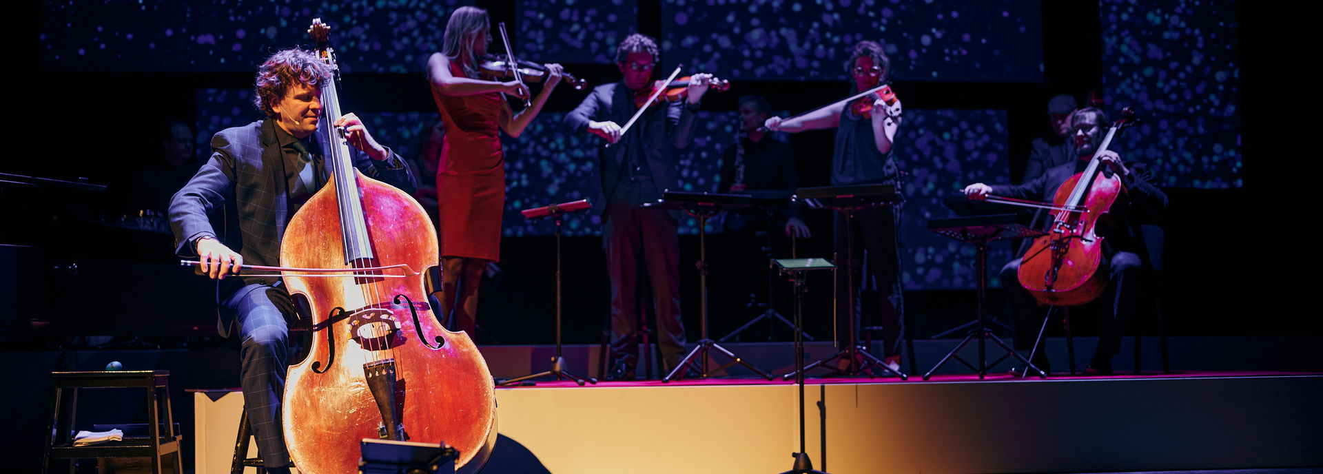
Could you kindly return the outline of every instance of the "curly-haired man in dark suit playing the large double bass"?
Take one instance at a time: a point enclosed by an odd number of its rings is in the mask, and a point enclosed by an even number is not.
[[[169,207],[175,253],[198,257],[201,271],[218,281],[221,335],[238,326],[243,405],[271,473],[288,473],[290,465],[280,396],[290,350],[286,320],[295,306],[279,277],[237,273],[242,265],[280,263],[290,217],[328,179],[321,158],[331,143],[319,124],[321,87],[329,81],[331,69],[316,54],[286,49],[267,58],[258,68],[254,99],[266,119],[217,132],[212,156]],[[409,167],[361,119],[345,114],[333,126],[345,130],[356,168],[413,192]],[[224,222],[220,232],[210,214]]]

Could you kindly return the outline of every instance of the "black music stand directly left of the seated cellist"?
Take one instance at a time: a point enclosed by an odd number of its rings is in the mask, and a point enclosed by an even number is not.
[[[1048,376],[1046,372],[1043,372],[1043,369],[1033,365],[1033,363],[1031,363],[1029,359],[1025,359],[1019,352],[1015,352],[1015,350],[1007,346],[1005,342],[1002,340],[1002,338],[998,338],[996,334],[992,334],[992,331],[983,324],[983,306],[987,305],[987,286],[988,286],[988,271],[987,271],[988,242],[1007,240],[1007,238],[1032,238],[1043,236],[1044,232],[1020,225],[1015,214],[934,218],[927,221],[927,229],[941,236],[946,236],[967,244],[974,244],[978,248],[976,271],[979,273],[979,283],[978,283],[979,295],[978,295],[978,320],[974,328],[970,330],[970,335],[964,336],[964,340],[960,340],[960,343],[957,344],[955,348],[951,350],[951,352],[947,352],[946,356],[937,363],[937,365],[933,365],[933,368],[929,369],[927,373],[923,373],[923,380],[931,377],[933,372],[937,372],[939,368],[942,368],[942,365],[945,365],[951,359],[958,360],[959,363],[964,364],[964,367],[968,367],[971,371],[979,372],[979,380],[982,380],[984,376],[987,376],[988,367],[996,365],[1003,360],[1005,360],[1007,357],[1015,357],[1016,360],[1024,363],[1025,367],[1028,367],[1025,369],[1025,373],[1028,373],[1028,371],[1035,371],[1039,372],[1039,377],[1046,379]],[[971,365],[968,361],[964,361],[964,359],[960,359],[960,356],[958,355],[958,352],[960,352],[960,350],[964,348],[964,346],[967,346],[970,340],[974,339],[978,339],[979,342],[978,367]],[[987,351],[984,347],[984,342],[988,339],[991,339],[994,344],[996,344],[998,347],[1002,348],[1002,351],[1005,352],[1002,357],[998,357],[991,364],[987,363]]]

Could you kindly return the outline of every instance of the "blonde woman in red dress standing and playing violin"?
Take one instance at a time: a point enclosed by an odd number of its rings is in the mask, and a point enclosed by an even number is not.
[[[504,95],[528,98],[516,81],[478,78],[478,61],[487,54],[491,21],[487,11],[462,7],[450,16],[439,53],[427,60],[431,97],[441,110],[446,136],[437,167],[441,208],[442,318],[474,336],[478,286],[487,263],[500,258],[500,218],[505,204],[505,160],[500,134],[517,138],[546,103],[561,79],[561,65],[546,65],[548,75],[532,106],[516,114]],[[451,312],[454,311],[454,312]]]

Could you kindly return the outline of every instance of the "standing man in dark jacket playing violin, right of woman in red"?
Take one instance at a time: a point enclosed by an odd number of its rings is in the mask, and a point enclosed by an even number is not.
[[[651,105],[652,70],[658,45],[643,34],[630,34],[615,52],[622,82],[597,86],[573,111],[565,126],[574,134],[590,132],[611,144],[597,155],[598,187],[593,213],[602,216],[602,248],[611,281],[611,352],[614,379],[634,379],[639,336],[639,267],[652,289],[656,339],[667,369],[680,363],[684,326],[680,322],[680,244],[677,214],[640,208],[676,188],[679,151],[689,146],[695,114],[708,91],[710,74],[695,74],[687,98]],[[622,124],[643,106],[648,109],[622,134]]]

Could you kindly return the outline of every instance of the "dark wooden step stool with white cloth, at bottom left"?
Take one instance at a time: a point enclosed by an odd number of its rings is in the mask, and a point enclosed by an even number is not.
[[[52,372],[54,396],[50,403],[50,429],[46,430],[46,449],[41,458],[41,471],[48,473],[50,459],[70,459],[69,473],[74,471],[73,459],[79,458],[152,458],[152,474],[163,474],[165,455],[175,454],[173,473],[183,473],[179,440],[175,433],[175,417],[169,403],[169,371],[115,371],[115,372]],[[81,388],[146,388],[147,391],[147,437],[126,437],[94,446],[74,446],[73,429],[78,412],[78,389]],[[69,391],[67,396],[65,391]],[[66,401],[67,403],[62,403]],[[67,406],[65,406],[67,405]],[[164,412],[164,417],[161,416]],[[164,426],[164,433],[161,433]]]

